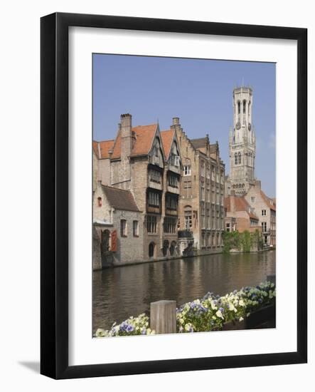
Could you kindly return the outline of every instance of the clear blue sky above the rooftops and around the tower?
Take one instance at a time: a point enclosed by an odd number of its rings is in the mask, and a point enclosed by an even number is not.
[[[208,133],[210,143],[218,140],[228,173],[233,88],[251,86],[255,175],[274,197],[275,76],[274,63],[94,54],[93,138],[114,138],[122,113],[132,114],[133,125],[159,120],[161,130],[179,117],[189,138]]]

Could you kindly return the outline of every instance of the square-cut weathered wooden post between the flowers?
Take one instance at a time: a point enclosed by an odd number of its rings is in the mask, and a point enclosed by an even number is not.
[[[176,334],[176,301],[151,302],[150,328],[156,334]]]

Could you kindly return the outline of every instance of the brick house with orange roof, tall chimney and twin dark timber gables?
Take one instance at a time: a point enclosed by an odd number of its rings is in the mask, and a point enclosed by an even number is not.
[[[159,124],[133,127],[132,115],[124,114],[114,140],[93,142],[93,156],[95,180],[128,191],[141,211],[139,257],[176,256],[181,155],[175,130],[161,132]],[[131,259],[135,261],[136,255]]]

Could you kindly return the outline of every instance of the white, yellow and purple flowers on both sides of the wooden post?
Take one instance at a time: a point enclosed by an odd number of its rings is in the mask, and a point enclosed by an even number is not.
[[[264,306],[274,303],[274,284],[261,283],[257,287],[242,287],[225,296],[215,296],[208,292],[202,299],[183,304],[176,309],[176,329],[178,333],[218,331],[229,321],[242,321]],[[149,317],[140,314],[129,317],[122,324],[114,323],[105,331],[97,329],[96,337],[132,336],[154,334],[149,328]]]

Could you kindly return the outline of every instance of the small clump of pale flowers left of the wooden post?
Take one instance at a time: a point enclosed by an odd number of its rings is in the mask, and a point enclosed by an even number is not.
[[[103,338],[108,336],[132,336],[132,335],[151,335],[154,331],[149,329],[149,317],[145,314],[140,314],[138,317],[129,317],[129,319],[122,322],[122,324],[112,324],[112,328],[105,331],[105,329],[97,329],[95,336]]]

